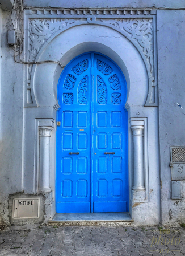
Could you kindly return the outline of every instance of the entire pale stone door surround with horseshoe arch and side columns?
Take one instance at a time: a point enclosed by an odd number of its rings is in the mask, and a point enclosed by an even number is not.
[[[63,66],[66,66],[80,54],[85,54],[86,52],[99,52],[111,58],[117,66],[121,68],[128,86],[128,97],[127,104],[125,108],[128,111],[128,122],[131,124],[131,129],[134,131],[132,134],[130,127],[128,127],[128,145],[129,145],[129,209],[131,216],[134,218],[134,221],[141,223],[145,217],[145,208],[144,204],[140,204],[141,208],[139,209],[140,214],[138,214],[138,209],[132,208],[134,202],[149,202],[149,184],[153,185],[153,178],[149,177],[149,170],[152,170],[157,173],[158,171],[158,161],[155,161],[158,157],[158,129],[157,129],[157,120],[158,120],[158,109],[157,108],[145,108],[144,105],[149,99],[149,106],[157,105],[157,95],[154,95],[154,100],[150,100],[150,91],[154,87],[152,83],[153,75],[150,72],[150,63],[148,56],[151,55],[151,58],[154,57],[153,52],[149,50],[153,48],[153,39],[151,43],[148,44],[148,50],[142,50],[142,46],[137,42],[136,36],[138,36],[136,30],[133,30],[133,33],[129,35],[123,27],[121,29],[121,23],[130,23],[133,21],[133,27],[137,28],[140,26],[142,21],[146,21],[145,29],[150,31],[154,35],[154,27],[151,22],[154,21],[155,15],[145,15],[146,11],[131,11],[129,14],[128,11],[117,11],[117,14],[112,12],[115,10],[110,10],[110,14],[102,14],[101,17],[99,14],[96,15],[95,19],[87,18],[85,14],[81,14],[81,10],[77,10],[77,14],[64,14],[66,10],[25,10],[27,13],[26,18],[26,30],[24,31],[24,60],[25,61],[44,61],[51,60],[54,62],[60,63],[57,64],[29,64],[30,73],[26,72],[25,68],[25,81],[30,83],[27,85],[28,90],[35,95],[35,104],[27,103],[25,106],[28,108],[24,109],[24,152],[29,152],[29,154],[24,154],[24,188],[26,192],[34,193],[37,192],[37,189],[40,189],[40,185],[37,180],[37,174],[40,172],[39,157],[42,155],[40,151],[40,136],[43,136],[43,131],[41,129],[50,129],[50,145],[49,149],[49,160],[47,161],[47,166],[49,165],[49,175],[50,176],[50,187],[51,200],[48,197],[48,201],[51,202],[51,213],[50,216],[53,216],[55,213],[54,204],[52,200],[54,198],[54,187],[55,187],[55,145],[56,145],[56,111],[59,107],[57,101],[57,83],[59,76],[62,74]],[[30,13],[28,13],[28,11]],[[89,10],[91,12],[91,10]],[[102,10],[102,13],[106,13]],[[53,14],[54,13],[54,14]],[[80,13],[80,14],[79,14]],[[97,13],[100,13],[98,10]],[[126,13],[126,14],[125,14]],[[133,13],[135,13],[133,15]],[[141,15],[140,15],[141,14]],[[88,14],[90,15],[90,14]],[[104,16],[103,16],[104,15]],[[93,15],[91,15],[93,17]],[[99,18],[97,18],[99,17]],[[106,19],[106,21],[105,21]],[[119,19],[119,20],[118,20]],[[140,19],[141,23],[137,24],[134,21]],[[39,33],[39,27],[37,27],[37,32],[32,30],[31,22],[33,22],[33,27],[41,26],[43,21],[49,21],[53,23],[52,27],[47,24],[46,27],[40,27],[42,31]],[[73,22],[74,21],[74,22]],[[110,22],[110,23],[108,23]],[[125,22],[125,23],[124,23]],[[154,24],[154,22],[153,22]],[[77,26],[76,26],[77,25]],[[151,26],[150,26],[151,25]],[[147,27],[151,29],[147,30]],[[48,27],[48,29],[47,29]],[[49,29],[51,28],[51,30]],[[53,27],[55,30],[53,30]],[[30,34],[29,34],[30,33]],[[34,35],[34,33],[37,33]],[[75,36],[78,35],[78,36]],[[30,38],[31,36],[31,38]],[[30,38],[30,39],[29,39]],[[146,41],[147,41],[146,36]],[[149,41],[150,42],[150,41]],[[154,43],[155,40],[154,40]],[[30,45],[30,52],[28,53],[28,46]],[[145,47],[146,49],[147,47]],[[35,53],[35,55],[33,54]],[[148,55],[148,56],[147,56]],[[23,56],[22,56],[23,59]],[[156,61],[156,56],[155,56]],[[156,62],[155,62],[156,64]],[[26,67],[26,66],[25,66]],[[156,70],[157,66],[155,66]],[[154,89],[157,92],[157,73],[155,72],[155,87]],[[150,91],[149,91],[150,90]],[[26,92],[27,90],[25,90]],[[26,98],[26,97],[25,97]],[[33,100],[32,100],[33,101]],[[30,101],[31,102],[31,101]],[[38,108],[30,108],[30,107]],[[155,125],[154,125],[155,124]],[[142,165],[142,173],[145,173],[144,185],[146,190],[141,191],[132,191],[133,184],[133,166],[137,167],[137,164],[133,162],[133,137],[138,131],[137,136],[143,137],[141,142],[143,142],[143,157],[141,161],[144,163]],[[40,133],[39,133],[40,132]],[[48,134],[44,134],[44,136]],[[136,139],[138,139],[136,137]],[[153,140],[155,137],[155,140]],[[33,139],[35,138],[35,140]],[[41,139],[42,140],[42,139]],[[153,144],[148,144],[148,141],[153,141]],[[34,145],[33,145],[34,144]],[[137,144],[137,141],[136,141]],[[49,145],[49,143],[48,143]],[[34,150],[33,150],[34,148]],[[148,153],[148,151],[150,151]],[[136,148],[136,152],[137,148]],[[140,151],[142,153],[142,151]],[[154,161],[148,161],[148,156],[152,152],[155,155]],[[40,155],[39,155],[40,154]],[[27,157],[28,155],[28,157]],[[151,154],[150,154],[151,155]],[[137,159],[137,158],[136,158]],[[40,168],[40,169],[39,169]],[[150,169],[149,169],[150,168]],[[143,170],[144,169],[144,170]],[[47,168],[48,170],[48,168]],[[43,177],[43,176],[42,176]],[[135,176],[137,179],[137,175]],[[30,180],[32,182],[30,182]],[[143,181],[143,179],[142,179]],[[150,182],[150,183],[149,183]],[[33,186],[32,186],[33,184]],[[137,185],[137,186],[136,186]],[[46,185],[48,187],[48,185]],[[38,187],[38,188],[37,188]],[[142,189],[142,186],[134,184],[134,189]],[[140,193],[141,192],[141,193]],[[155,195],[158,193],[156,190]],[[156,196],[157,198],[157,196]],[[47,201],[47,202],[48,202]],[[157,206],[158,200],[155,201]],[[132,204],[133,203],[133,204]],[[153,202],[152,202],[153,204]],[[48,204],[46,204],[48,205]],[[151,207],[150,207],[151,206]],[[47,206],[47,209],[50,206]],[[153,210],[152,205],[148,205],[150,209]],[[155,215],[158,214],[158,208],[155,208]],[[48,213],[47,213],[48,214]],[[49,214],[47,217],[49,218]],[[151,215],[151,210],[148,213],[148,216]],[[156,218],[153,218],[153,223],[156,222]],[[152,222],[151,222],[152,223]]]

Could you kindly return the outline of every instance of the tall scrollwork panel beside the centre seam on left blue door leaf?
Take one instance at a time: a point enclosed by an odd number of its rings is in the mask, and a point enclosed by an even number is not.
[[[87,86],[88,76],[84,76],[78,86],[78,102],[79,104],[87,104]]]

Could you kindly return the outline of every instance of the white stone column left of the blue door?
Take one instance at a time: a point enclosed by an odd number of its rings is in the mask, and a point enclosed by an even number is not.
[[[39,127],[39,192],[51,192],[50,188],[50,137],[53,127]]]

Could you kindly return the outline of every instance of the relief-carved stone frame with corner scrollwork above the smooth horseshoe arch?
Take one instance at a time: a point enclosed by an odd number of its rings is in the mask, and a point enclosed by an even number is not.
[[[155,15],[129,13],[129,15],[77,15],[77,14],[54,14],[43,11],[43,14],[35,14],[27,10],[26,15],[28,34],[27,60],[30,62],[40,61],[40,52],[59,34],[80,25],[100,25],[110,27],[125,36],[137,48],[148,73],[148,96],[145,106],[157,106],[157,57],[155,40]],[[29,14],[30,14],[29,13]],[[148,12],[149,13],[149,12]],[[151,13],[151,12],[150,12]],[[57,16],[57,18],[56,18]],[[53,59],[52,59],[53,60]],[[56,59],[54,59],[56,61]],[[57,60],[59,61],[59,60]],[[30,90],[30,101],[27,99],[25,107],[37,107],[34,86],[31,84],[32,68],[35,64],[28,65],[27,90]],[[29,93],[27,94],[29,95]],[[28,96],[27,96],[28,97]]]

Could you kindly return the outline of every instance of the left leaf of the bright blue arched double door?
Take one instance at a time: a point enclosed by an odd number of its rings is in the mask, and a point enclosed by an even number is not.
[[[57,120],[57,212],[90,212],[91,55],[81,56],[64,70]],[[61,144],[60,144],[61,140]]]

